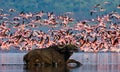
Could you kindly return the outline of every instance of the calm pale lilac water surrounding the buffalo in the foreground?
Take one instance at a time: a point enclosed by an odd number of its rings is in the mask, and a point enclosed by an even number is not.
[[[0,72],[31,72],[24,70],[22,60],[24,54],[0,53]],[[74,53],[71,58],[78,60],[83,65],[74,69],[38,68],[36,72],[120,72],[119,53]]]

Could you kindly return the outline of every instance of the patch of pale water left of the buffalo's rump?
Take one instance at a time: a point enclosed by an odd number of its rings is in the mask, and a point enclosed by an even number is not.
[[[0,72],[23,72],[24,53],[0,53]]]

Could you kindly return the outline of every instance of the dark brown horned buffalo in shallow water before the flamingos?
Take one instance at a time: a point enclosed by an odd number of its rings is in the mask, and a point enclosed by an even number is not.
[[[80,66],[81,63],[69,59],[73,52],[78,52],[78,48],[75,45],[53,45],[48,48],[34,49],[28,52],[23,57],[26,68],[32,68],[35,66],[63,66],[68,63],[76,63],[76,67]]]

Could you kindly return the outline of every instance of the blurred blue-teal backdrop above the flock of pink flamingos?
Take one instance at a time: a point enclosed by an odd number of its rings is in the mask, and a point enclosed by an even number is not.
[[[103,4],[104,2],[108,4]],[[54,12],[56,14],[63,14],[65,12],[74,12],[78,20],[90,19],[98,15],[107,14],[111,11],[120,10],[116,7],[119,5],[120,0],[0,0],[0,9],[9,10],[10,8],[16,9],[18,12]],[[93,8],[96,4],[100,4],[100,8],[105,11],[99,12],[98,8]],[[90,16],[90,10],[97,10],[97,13]],[[6,12],[6,11],[4,11]]]

